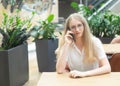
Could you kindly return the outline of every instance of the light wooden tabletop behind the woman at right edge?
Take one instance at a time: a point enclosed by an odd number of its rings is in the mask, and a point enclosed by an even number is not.
[[[103,44],[106,54],[120,53],[120,44]]]

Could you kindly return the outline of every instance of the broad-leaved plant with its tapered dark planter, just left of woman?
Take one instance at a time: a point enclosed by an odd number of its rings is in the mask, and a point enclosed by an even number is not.
[[[52,23],[54,15],[50,14],[45,20],[40,20],[39,25],[34,26],[31,36],[34,37],[38,68],[40,72],[55,71],[58,39],[55,35],[56,24]]]

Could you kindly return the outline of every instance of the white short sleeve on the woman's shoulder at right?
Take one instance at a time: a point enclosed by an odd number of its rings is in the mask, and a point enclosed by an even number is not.
[[[94,45],[98,59],[107,58],[102,42],[96,37],[94,37]]]

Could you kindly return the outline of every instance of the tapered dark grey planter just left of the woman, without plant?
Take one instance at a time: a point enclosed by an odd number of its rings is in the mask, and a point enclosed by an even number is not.
[[[55,50],[58,39],[43,39],[36,41],[36,53],[39,72],[53,72],[56,70]]]

